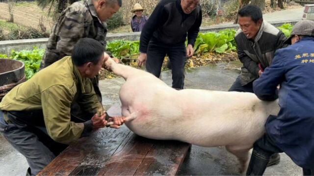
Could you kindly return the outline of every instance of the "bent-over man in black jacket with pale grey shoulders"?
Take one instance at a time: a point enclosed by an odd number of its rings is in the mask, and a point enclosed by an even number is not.
[[[253,81],[263,69],[271,65],[276,49],[286,47],[286,36],[279,29],[263,21],[256,5],[246,5],[238,12],[240,29],[235,34],[238,58],[243,63],[240,75],[229,91],[253,92]],[[278,164],[279,154],[273,154],[268,166]]]

